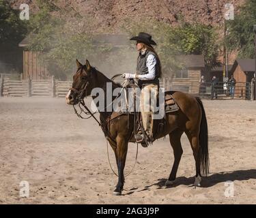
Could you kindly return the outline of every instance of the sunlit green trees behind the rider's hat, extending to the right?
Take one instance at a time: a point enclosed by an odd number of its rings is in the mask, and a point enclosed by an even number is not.
[[[129,35],[137,35],[141,31],[151,33],[158,42],[156,51],[160,56],[164,74],[170,74],[181,68],[177,55],[203,55],[207,69],[218,65],[218,40],[216,29],[208,25],[184,22],[172,27],[165,22],[141,20],[139,24],[129,19],[122,28]]]

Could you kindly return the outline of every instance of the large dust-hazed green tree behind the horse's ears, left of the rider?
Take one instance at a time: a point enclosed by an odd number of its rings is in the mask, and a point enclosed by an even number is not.
[[[28,49],[42,52],[40,59],[46,63],[50,74],[61,79],[72,79],[76,70],[76,59],[88,59],[99,69],[102,67],[103,73],[106,73],[106,69],[108,72],[122,72],[121,67],[125,66],[126,60],[121,58],[124,50],[117,55],[120,50],[117,51],[114,46],[94,44],[91,32],[81,27],[85,17],[76,11],[72,14],[73,10],[65,9],[65,13],[62,13],[63,9],[57,7],[55,1],[41,1],[37,1],[40,10],[31,15],[31,46]],[[86,21],[89,25],[89,16],[86,16]],[[118,57],[118,60],[114,57]],[[123,61],[119,61],[120,59]],[[125,71],[125,67],[123,70]]]

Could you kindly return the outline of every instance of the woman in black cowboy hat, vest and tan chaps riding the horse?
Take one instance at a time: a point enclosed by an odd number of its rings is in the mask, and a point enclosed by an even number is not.
[[[147,142],[152,142],[153,138],[153,102],[156,102],[159,79],[161,76],[161,63],[160,59],[152,47],[156,42],[152,40],[149,33],[139,33],[138,36],[130,38],[136,40],[136,47],[139,51],[137,59],[136,74],[123,74],[126,79],[138,79],[138,85],[141,89],[141,116],[145,134],[147,134]],[[151,97],[151,99],[150,99]],[[148,110],[149,109],[149,110]],[[135,135],[137,142],[145,145],[145,138],[141,131]]]

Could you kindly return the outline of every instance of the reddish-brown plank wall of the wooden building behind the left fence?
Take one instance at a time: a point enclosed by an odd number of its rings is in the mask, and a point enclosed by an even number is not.
[[[23,80],[31,78],[31,80],[45,80],[50,79],[47,67],[40,61],[41,52],[29,50],[30,38],[25,39],[18,44],[20,48],[23,48]]]

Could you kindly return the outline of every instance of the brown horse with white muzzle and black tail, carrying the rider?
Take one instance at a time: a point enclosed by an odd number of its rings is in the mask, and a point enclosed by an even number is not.
[[[104,90],[104,97],[106,99],[107,82],[111,82],[112,89],[120,87],[119,84],[106,78],[104,74],[99,72],[95,67],[92,67],[89,61],[86,60],[85,65],[82,65],[76,60],[76,64],[78,69],[73,77],[72,88],[70,88],[70,91],[66,95],[66,102],[68,104],[78,104],[84,97],[91,94],[92,89],[97,87]],[[209,168],[208,125],[205,110],[199,97],[179,91],[174,92],[173,97],[179,105],[180,110],[165,115],[166,125],[157,136],[157,138],[162,138],[169,134],[169,140],[174,153],[173,168],[165,185],[172,185],[175,181],[177,168],[183,153],[180,138],[185,133],[190,141],[195,158],[195,186],[199,186],[201,175],[207,175]],[[132,114],[130,116],[128,114],[122,114],[122,116],[119,116],[119,119],[111,119],[113,113],[115,112],[100,111],[100,125],[115,153],[118,168],[118,182],[114,194],[121,195],[124,187],[124,166],[126,163],[128,142],[133,131],[133,116]]]

